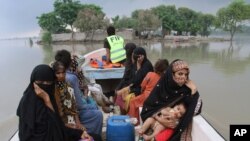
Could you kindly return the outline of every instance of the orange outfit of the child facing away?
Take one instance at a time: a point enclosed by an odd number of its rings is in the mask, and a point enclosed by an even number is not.
[[[143,106],[145,99],[149,96],[155,85],[160,79],[160,75],[155,72],[149,72],[141,83],[142,93],[136,97],[131,98],[129,103],[128,115],[136,117],[139,120],[139,107]]]

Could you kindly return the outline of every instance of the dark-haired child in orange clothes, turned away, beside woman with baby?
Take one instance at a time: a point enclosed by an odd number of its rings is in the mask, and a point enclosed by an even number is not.
[[[169,66],[167,59],[159,59],[154,64],[154,72],[148,72],[141,83],[141,94],[131,98],[129,102],[128,115],[130,117],[135,117],[139,120],[139,107],[143,106],[145,99],[148,97],[152,89],[155,87],[156,83],[160,77],[164,74],[167,67]]]

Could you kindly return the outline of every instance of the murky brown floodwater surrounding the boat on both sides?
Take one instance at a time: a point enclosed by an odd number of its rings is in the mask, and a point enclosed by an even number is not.
[[[138,42],[148,58],[184,59],[190,64],[190,78],[203,99],[202,115],[229,139],[230,124],[250,124],[248,100],[250,83],[249,37],[230,42],[159,43]],[[85,54],[102,44],[41,46],[29,40],[0,41],[0,138],[8,140],[17,129],[16,108],[29,83],[34,66],[49,63],[57,50]]]

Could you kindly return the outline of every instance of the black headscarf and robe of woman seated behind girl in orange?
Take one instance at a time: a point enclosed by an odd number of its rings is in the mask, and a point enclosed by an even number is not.
[[[135,95],[139,95],[141,93],[141,82],[143,81],[144,77],[147,75],[148,72],[153,72],[153,65],[148,60],[147,54],[144,48],[136,47],[133,51],[133,58],[135,60],[138,59],[139,55],[144,56],[144,60],[142,61],[141,68],[137,70],[137,64],[133,64],[132,68],[132,87],[130,87],[130,92],[135,93]]]

